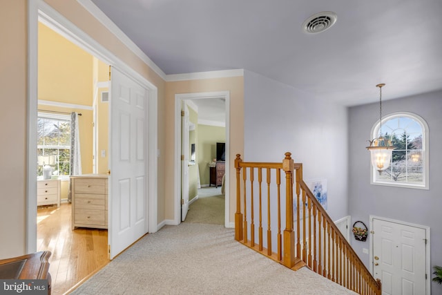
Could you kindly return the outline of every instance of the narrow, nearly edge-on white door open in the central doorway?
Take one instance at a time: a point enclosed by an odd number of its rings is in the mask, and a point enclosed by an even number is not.
[[[181,114],[181,221],[184,221],[189,211],[189,107],[184,101]]]

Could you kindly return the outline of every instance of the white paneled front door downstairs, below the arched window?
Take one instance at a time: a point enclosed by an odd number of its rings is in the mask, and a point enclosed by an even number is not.
[[[427,294],[425,229],[373,219],[373,231],[373,276],[382,294]]]

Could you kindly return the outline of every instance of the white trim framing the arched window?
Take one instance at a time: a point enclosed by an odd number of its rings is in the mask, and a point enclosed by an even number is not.
[[[399,182],[374,182],[374,176],[376,175],[376,173],[378,173],[375,169],[373,169],[373,166],[370,164],[370,184],[374,184],[374,185],[382,185],[382,186],[387,186],[387,187],[403,187],[406,189],[430,189],[430,142],[429,142],[429,133],[430,133],[430,129],[428,128],[428,124],[427,122],[423,119],[423,117],[421,117],[420,115],[417,115],[415,113],[411,113],[411,112],[394,112],[394,113],[390,113],[388,115],[385,115],[382,118],[382,124],[385,124],[385,122],[394,119],[395,117],[410,117],[411,119],[416,119],[415,121],[417,121],[419,124],[422,125],[423,127],[423,133],[422,133],[422,142],[423,142],[423,156],[425,159],[425,162],[423,162],[424,165],[424,171],[425,171],[425,175],[423,175],[423,184],[412,184],[412,183],[399,183]],[[376,121],[376,123],[372,126],[372,131],[370,133],[370,138],[374,138],[378,135],[374,134],[374,131],[376,129],[378,129],[379,127],[379,120]]]

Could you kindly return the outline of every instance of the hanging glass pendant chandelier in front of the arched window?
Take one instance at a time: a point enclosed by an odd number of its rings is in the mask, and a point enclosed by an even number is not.
[[[390,167],[392,160],[392,152],[396,149],[396,146],[392,146],[392,141],[382,136],[382,87],[385,84],[378,84],[379,88],[379,137],[369,140],[370,145],[367,146],[367,150],[370,151],[372,156],[372,165],[379,174],[385,169]]]

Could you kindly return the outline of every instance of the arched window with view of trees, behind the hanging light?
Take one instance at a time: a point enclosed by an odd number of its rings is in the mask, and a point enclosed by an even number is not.
[[[413,113],[392,113],[373,126],[372,138],[390,137],[396,149],[390,167],[378,173],[372,167],[372,184],[428,189],[428,126]]]

